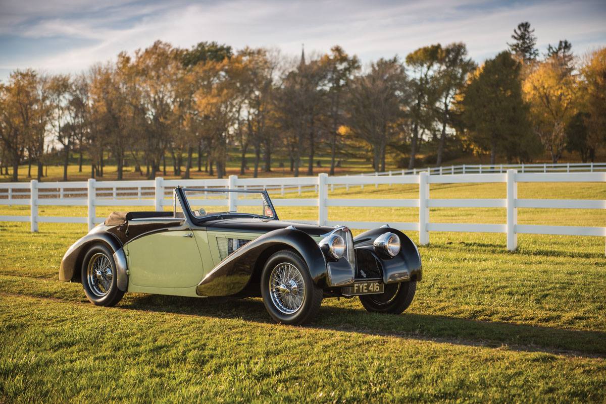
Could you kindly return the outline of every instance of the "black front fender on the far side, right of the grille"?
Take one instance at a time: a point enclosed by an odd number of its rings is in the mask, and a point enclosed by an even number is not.
[[[383,233],[391,232],[400,238],[401,250],[393,258],[382,258],[375,253],[373,242]],[[413,241],[400,230],[390,227],[379,227],[378,229],[368,230],[361,233],[353,239],[353,245],[356,249],[365,249],[373,253],[381,264],[383,272],[383,282],[385,284],[403,282],[403,281],[421,281],[423,267],[421,264],[421,254]]]

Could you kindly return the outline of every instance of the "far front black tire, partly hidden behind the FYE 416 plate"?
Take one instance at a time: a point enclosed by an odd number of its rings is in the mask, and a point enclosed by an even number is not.
[[[360,295],[360,301],[372,313],[400,314],[410,306],[416,292],[416,282],[401,282],[385,285],[379,295]]]

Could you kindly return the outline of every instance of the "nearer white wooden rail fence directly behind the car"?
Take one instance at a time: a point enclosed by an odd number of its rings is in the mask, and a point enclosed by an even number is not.
[[[38,231],[38,223],[87,223],[92,229],[104,218],[96,216],[97,206],[150,206],[162,210],[171,206],[172,189],[178,185],[190,187],[224,187],[230,189],[252,189],[258,187],[278,187],[284,195],[284,187],[315,189],[314,198],[275,198],[275,206],[313,206],[318,208],[317,223],[325,226],[338,224],[352,229],[372,229],[382,226],[385,221],[331,221],[328,220],[330,207],[416,207],[419,209],[419,220],[416,222],[387,222],[389,226],[401,230],[419,232],[422,245],[430,241],[430,232],[487,232],[506,233],[507,249],[518,246],[517,235],[553,234],[576,236],[606,237],[606,227],[586,226],[550,226],[549,224],[518,224],[518,208],[557,208],[557,209],[606,209],[606,200],[547,200],[519,199],[518,183],[562,183],[597,182],[606,183],[606,172],[584,173],[519,173],[508,170],[502,174],[449,174],[430,175],[420,172],[417,175],[392,175],[373,177],[318,177],[291,178],[238,178],[231,175],[225,179],[209,180],[164,180],[155,181],[95,181],[38,183],[5,183],[0,184],[1,205],[28,205],[29,216],[0,216],[0,221],[30,222],[32,232]],[[505,199],[433,199],[430,197],[430,184],[444,183],[504,183],[507,189]],[[418,184],[419,198],[415,199],[358,199],[329,198],[328,189],[333,186],[355,186],[364,184]],[[606,185],[606,184],[605,184]],[[215,204],[229,206],[230,201],[214,201]],[[87,217],[41,217],[39,206],[87,206]],[[507,209],[505,224],[468,224],[468,223],[431,223],[430,207],[499,207]],[[600,225],[602,223],[598,223]]]

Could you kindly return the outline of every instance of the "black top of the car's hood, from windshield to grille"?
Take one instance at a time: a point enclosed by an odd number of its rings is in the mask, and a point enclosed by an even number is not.
[[[267,233],[272,230],[285,229],[288,226],[295,226],[297,230],[307,233],[310,236],[319,236],[334,230],[334,227],[316,226],[315,224],[291,223],[288,221],[256,219],[256,218],[233,218],[210,220],[201,223],[201,226],[208,230],[232,230],[242,232]]]

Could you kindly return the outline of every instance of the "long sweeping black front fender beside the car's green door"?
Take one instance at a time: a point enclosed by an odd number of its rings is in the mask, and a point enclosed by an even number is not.
[[[318,244],[307,233],[287,228],[265,233],[233,252],[202,279],[196,293],[199,296],[230,296],[241,292],[253,276],[262,253],[279,246],[296,250],[301,255],[316,285],[326,287],[331,284],[328,265]],[[349,268],[353,281],[353,270]],[[338,266],[335,269],[337,278],[341,279]]]

